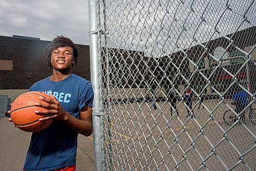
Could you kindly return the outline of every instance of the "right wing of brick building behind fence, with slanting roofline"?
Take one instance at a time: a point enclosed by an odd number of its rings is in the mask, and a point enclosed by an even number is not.
[[[182,92],[186,80],[190,80],[191,87],[197,93],[202,92],[205,99],[219,99],[218,93],[223,94],[236,79],[243,87],[247,89],[249,86],[250,91],[255,93],[255,35],[256,27],[250,27],[162,57],[160,66],[163,70],[159,70],[158,74],[161,86],[168,89],[170,84],[174,84],[177,91]],[[249,52],[250,59],[245,54]],[[170,65],[166,66],[168,63]],[[167,76],[162,79],[165,69]],[[224,97],[230,99],[232,94],[230,89]]]

